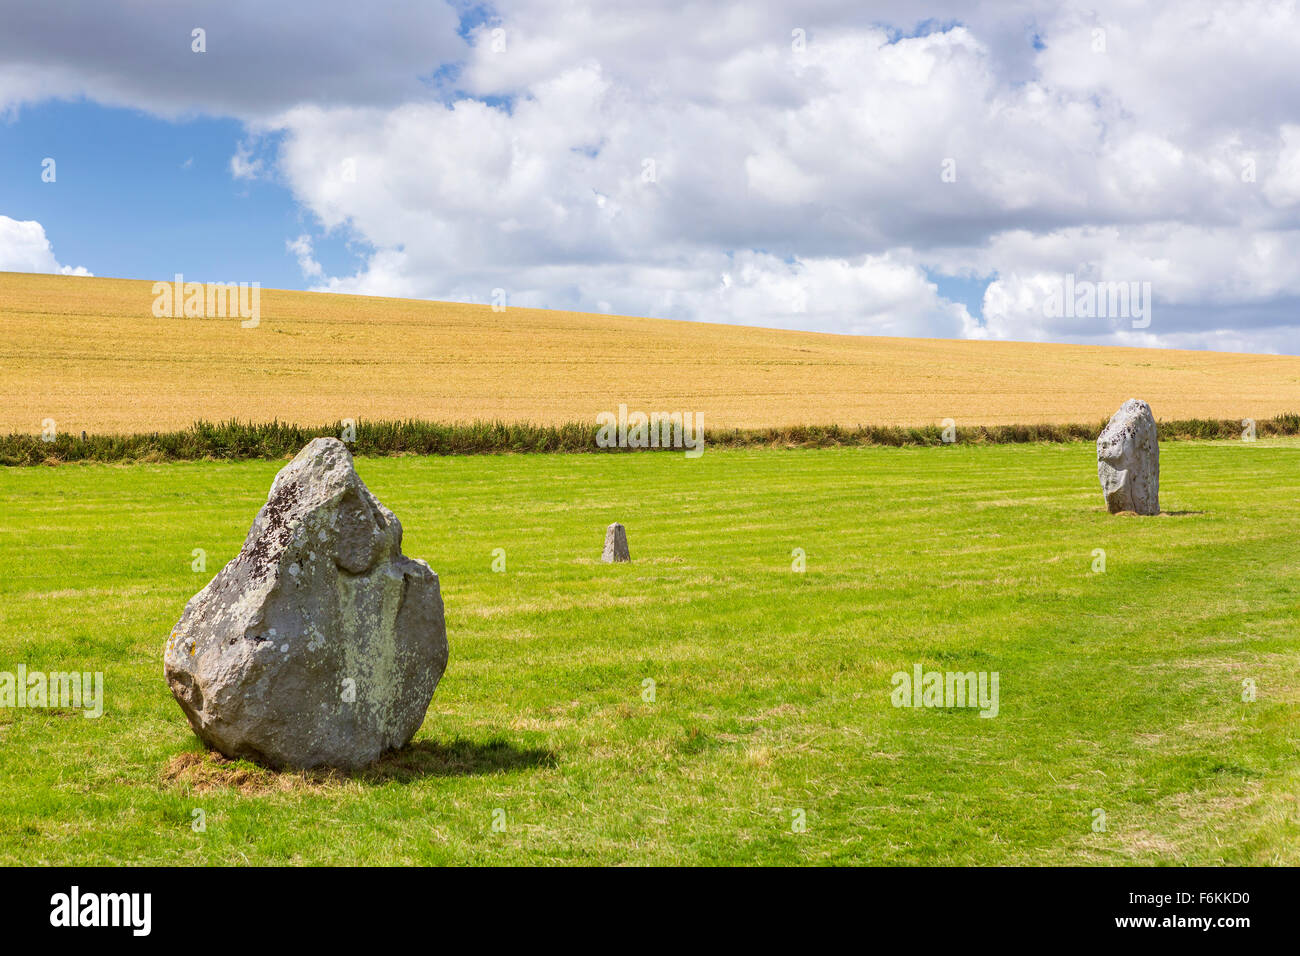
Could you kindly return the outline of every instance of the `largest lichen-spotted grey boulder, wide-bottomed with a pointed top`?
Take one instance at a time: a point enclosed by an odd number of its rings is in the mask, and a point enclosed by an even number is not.
[[[209,748],[343,770],[411,740],[446,666],[438,576],[402,555],[402,524],[337,438],[316,438],[276,476],[164,658]]]

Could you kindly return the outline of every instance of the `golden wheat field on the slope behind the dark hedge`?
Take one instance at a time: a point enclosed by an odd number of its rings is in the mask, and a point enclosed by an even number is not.
[[[152,282],[0,273],[0,431],[198,419],[594,421],[619,403],[707,427],[1097,421],[1300,410],[1300,356],[874,338],[263,290],[257,328],[157,319]]]

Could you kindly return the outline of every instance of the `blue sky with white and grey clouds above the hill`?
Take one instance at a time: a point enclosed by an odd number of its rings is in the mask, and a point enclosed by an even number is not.
[[[1300,354],[1294,1],[0,22],[0,271]]]

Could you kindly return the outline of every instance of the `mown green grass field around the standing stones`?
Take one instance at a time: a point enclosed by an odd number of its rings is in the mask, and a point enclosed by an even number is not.
[[[1149,519],[1087,444],[360,458],[451,662],[351,778],[200,756],[162,680],[282,464],[0,470],[0,670],[107,684],[0,710],[0,864],[1300,862],[1294,441],[1165,445]]]

